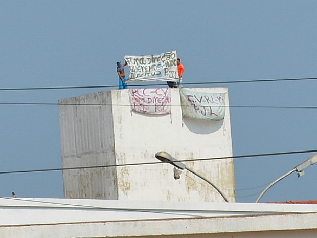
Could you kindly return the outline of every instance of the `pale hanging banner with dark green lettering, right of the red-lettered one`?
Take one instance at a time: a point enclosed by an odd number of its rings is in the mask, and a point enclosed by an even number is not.
[[[225,93],[203,93],[179,89],[183,117],[222,120],[225,115]]]

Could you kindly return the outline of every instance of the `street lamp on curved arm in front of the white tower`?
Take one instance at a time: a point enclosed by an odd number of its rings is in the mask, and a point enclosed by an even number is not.
[[[186,169],[189,172],[191,172],[192,174],[196,175],[197,177],[199,177],[200,179],[206,181],[207,183],[209,183],[211,186],[213,186],[221,195],[221,197],[224,199],[224,201],[226,201],[227,203],[229,202],[228,199],[223,195],[223,193],[219,190],[219,188],[214,185],[212,182],[210,182],[208,179],[206,179],[205,177],[197,174],[195,171],[189,169],[188,167],[186,167],[185,164],[183,164],[182,162],[179,162],[178,160],[176,160],[175,158],[173,158],[170,154],[168,154],[167,152],[161,151],[161,152],[157,152],[155,154],[156,159],[161,160],[162,162],[165,163],[169,163],[174,165],[175,167],[179,168],[179,169]]]

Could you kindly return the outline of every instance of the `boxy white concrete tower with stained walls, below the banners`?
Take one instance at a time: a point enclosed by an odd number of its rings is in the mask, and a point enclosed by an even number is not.
[[[194,90],[228,92],[227,88]],[[114,104],[112,107],[93,106],[96,109],[60,105],[63,167],[156,162],[154,155],[161,150],[178,160],[232,156],[229,107],[222,121],[185,119],[182,118],[179,89],[171,90],[171,100],[172,111],[167,115],[131,111],[128,90],[60,100],[60,103]],[[229,105],[228,94],[226,105]],[[73,145],[72,140],[82,143]],[[100,149],[102,144],[104,147]],[[82,145],[87,146],[83,149]],[[65,149],[69,147],[72,148],[71,153]],[[101,151],[109,153],[104,155]],[[235,201],[232,159],[186,162],[186,165],[218,186],[229,201]],[[183,171],[181,179],[174,180],[173,166],[169,164],[117,167],[116,172],[109,169],[110,175],[106,170],[97,175],[99,170],[64,172],[65,197],[223,202],[213,187],[186,171]]]

